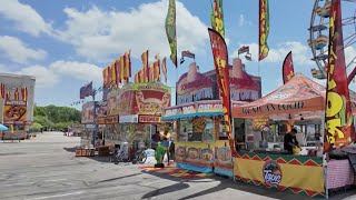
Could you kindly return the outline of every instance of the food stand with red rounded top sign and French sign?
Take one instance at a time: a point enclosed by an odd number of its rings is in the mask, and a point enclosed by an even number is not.
[[[127,83],[107,97],[106,142],[123,141],[149,147],[150,134],[159,129],[161,109],[170,106],[170,88],[160,82]]]

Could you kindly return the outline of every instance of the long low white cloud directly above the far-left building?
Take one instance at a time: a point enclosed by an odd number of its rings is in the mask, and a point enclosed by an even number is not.
[[[43,66],[29,66],[19,71],[9,70],[0,64],[0,72],[16,73],[36,77],[36,87],[38,88],[52,88],[65,79],[77,79],[86,81],[100,82],[102,69],[86,62],[73,62],[58,60]]]

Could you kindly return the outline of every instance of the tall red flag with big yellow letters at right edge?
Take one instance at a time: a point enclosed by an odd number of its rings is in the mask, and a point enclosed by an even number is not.
[[[324,152],[355,141],[345,64],[340,0],[333,0],[329,20]]]

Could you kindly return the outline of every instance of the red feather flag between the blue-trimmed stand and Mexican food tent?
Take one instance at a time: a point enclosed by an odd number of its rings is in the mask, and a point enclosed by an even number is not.
[[[236,156],[236,148],[231,134],[231,106],[230,106],[230,81],[229,81],[229,64],[228,52],[225,40],[219,32],[208,28],[211,51],[214,56],[215,70],[217,81],[219,84],[220,97],[222,100],[224,121],[226,127],[226,134],[229,139],[229,144],[233,156]]]

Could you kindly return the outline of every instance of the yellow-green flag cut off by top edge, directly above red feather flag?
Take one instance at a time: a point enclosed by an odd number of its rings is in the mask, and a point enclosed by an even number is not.
[[[225,38],[222,0],[214,0],[211,9],[211,27]]]

